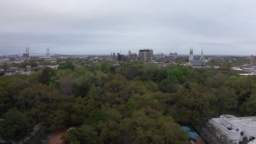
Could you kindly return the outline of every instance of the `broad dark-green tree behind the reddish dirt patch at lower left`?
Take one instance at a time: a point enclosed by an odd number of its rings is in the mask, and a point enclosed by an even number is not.
[[[82,98],[60,94],[56,88],[37,84],[22,89],[16,106],[27,113],[43,130],[55,130],[84,121],[86,109]]]

